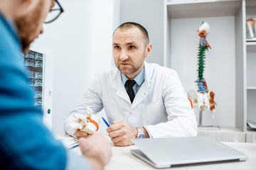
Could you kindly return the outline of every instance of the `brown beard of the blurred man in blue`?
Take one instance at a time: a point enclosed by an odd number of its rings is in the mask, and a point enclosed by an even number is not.
[[[28,16],[17,18],[14,21],[18,29],[18,34],[21,38],[21,47],[22,47],[22,52],[24,54],[28,52],[31,43],[36,38],[34,31],[37,30],[36,28],[38,28],[38,26],[40,26],[40,23],[38,20],[41,17],[41,12],[42,12],[41,6],[43,6],[43,1],[38,2],[38,6],[36,6],[34,10],[28,14]],[[35,37],[33,37],[33,35]]]

